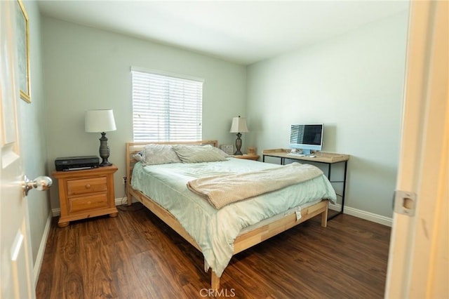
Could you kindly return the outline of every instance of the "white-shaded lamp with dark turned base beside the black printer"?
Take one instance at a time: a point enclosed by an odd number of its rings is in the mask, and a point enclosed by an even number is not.
[[[84,120],[86,132],[101,133],[100,157],[102,162],[100,163],[100,166],[112,165],[112,163],[107,161],[110,150],[109,145],[107,145],[105,132],[116,131],[114,112],[112,112],[112,109],[87,110],[86,118]]]

